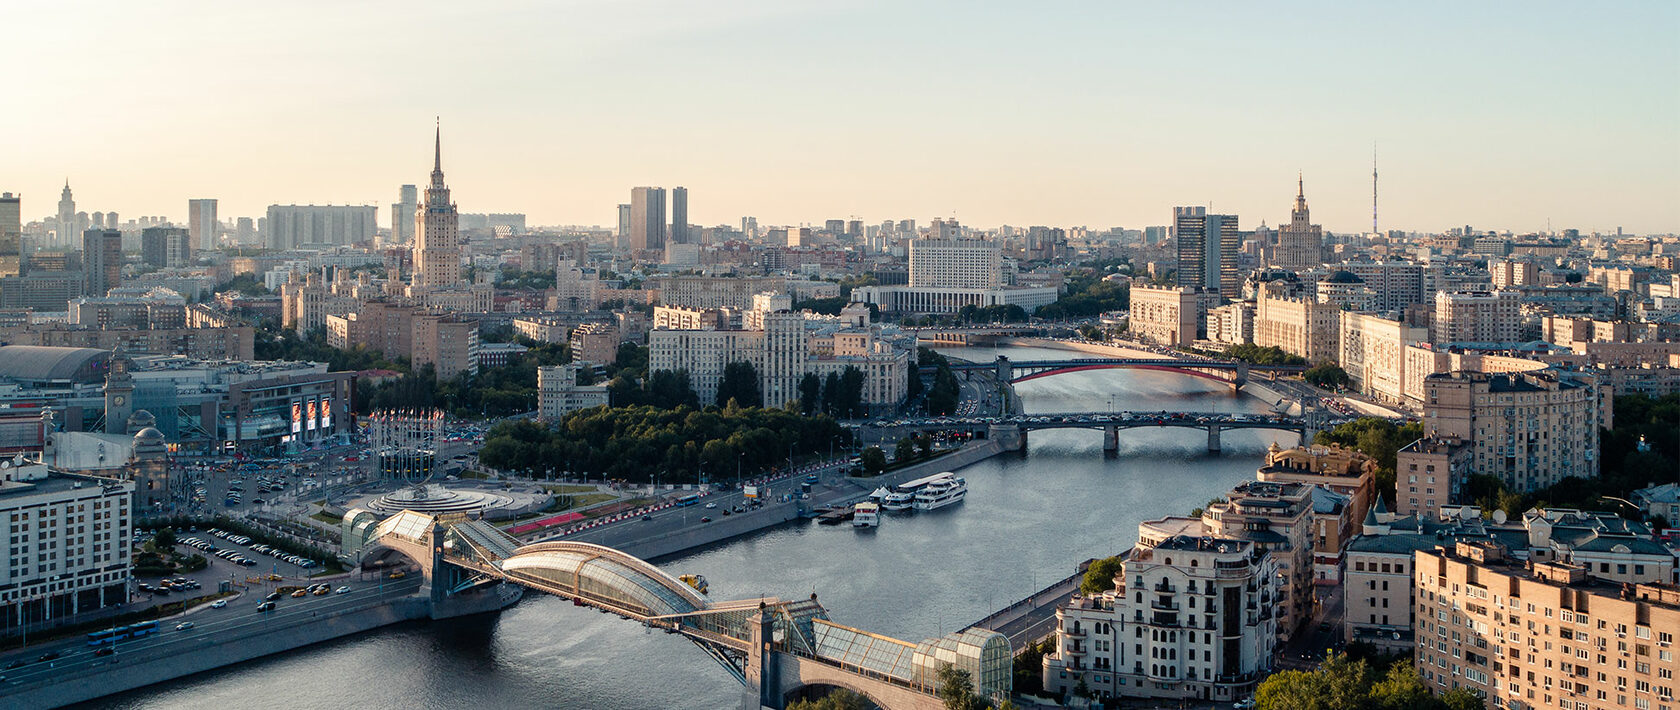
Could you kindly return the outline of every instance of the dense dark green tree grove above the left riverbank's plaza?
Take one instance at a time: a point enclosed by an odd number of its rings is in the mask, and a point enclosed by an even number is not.
[[[659,373],[655,373],[655,378]],[[531,475],[581,472],[628,482],[687,483],[751,477],[788,458],[827,455],[852,435],[835,420],[780,408],[696,410],[633,405],[573,411],[554,428],[504,421],[479,452],[484,465]]]

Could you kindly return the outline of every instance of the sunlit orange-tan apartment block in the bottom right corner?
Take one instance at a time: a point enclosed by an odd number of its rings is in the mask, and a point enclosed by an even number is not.
[[[1616,584],[1494,544],[1416,554],[1418,675],[1514,708],[1673,707],[1680,591]]]

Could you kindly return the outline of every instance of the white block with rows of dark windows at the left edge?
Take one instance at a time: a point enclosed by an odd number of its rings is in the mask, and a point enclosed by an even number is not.
[[[3,463],[0,525],[12,544],[0,566],[0,634],[126,604],[134,483]]]

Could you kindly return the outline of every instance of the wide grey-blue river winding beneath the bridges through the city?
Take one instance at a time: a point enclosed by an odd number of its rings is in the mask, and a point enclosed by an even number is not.
[[[990,361],[1079,358],[1038,347],[953,347]],[[1087,371],[1020,386],[1028,413],[1265,411],[1220,383],[1158,371]],[[956,631],[1129,547],[1137,522],[1186,514],[1252,478],[1267,445],[1295,435],[1236,430],[1206,453],[1200,430],[1032,433],[1028,450],[961,473],[968,500],[887,517],[879,530],[795,524],[660,566],[701,572],[714,598],[813,591],[833,621],[911,641]],[[97,708],[736,708],[741,687],[701,650],[617,616],[529,594],[499,616],[413,623],[104,698]]]

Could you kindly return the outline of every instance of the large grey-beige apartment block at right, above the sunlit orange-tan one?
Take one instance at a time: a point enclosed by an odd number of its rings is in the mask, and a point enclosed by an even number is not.
[[[1515,492],[1598,477],[1598,386],[1554,373],[1443,373],[1425,378],[1425,431],[1470,441],[1472,473]]]

